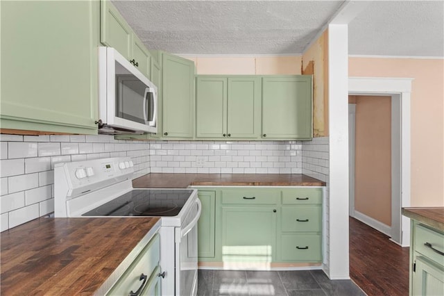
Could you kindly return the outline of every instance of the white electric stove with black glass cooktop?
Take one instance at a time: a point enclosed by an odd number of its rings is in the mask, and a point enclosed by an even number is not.
[[[130,158],[58,163],[56,217],[160,217],[162,295],[197,294],[197,190],[134,189]]]

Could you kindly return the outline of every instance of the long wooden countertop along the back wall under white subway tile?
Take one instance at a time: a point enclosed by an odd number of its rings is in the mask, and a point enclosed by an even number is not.
[[[133,180],[134,188],[187,188],[188,186],[325,186],[305,174],[160,174]]]

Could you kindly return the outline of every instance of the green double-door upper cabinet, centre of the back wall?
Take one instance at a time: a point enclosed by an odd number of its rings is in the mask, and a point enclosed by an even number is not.
[[[196,138],[259,138],[260,76],[197,76]]]

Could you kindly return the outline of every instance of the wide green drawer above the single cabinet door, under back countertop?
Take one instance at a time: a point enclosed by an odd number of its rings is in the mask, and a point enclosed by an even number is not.
[[[280,190],[222,190],[222,204],[276,204]]]

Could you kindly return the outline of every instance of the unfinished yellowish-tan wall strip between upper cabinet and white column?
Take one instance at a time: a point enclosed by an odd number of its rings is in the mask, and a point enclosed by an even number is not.
[[[302,72],[313,64],[313,135],[328,135],[328,32],[325,31],[302,55]],[[311,69],[308,69],[311,72]],[[310,73],[311,74],[311,73]]]

